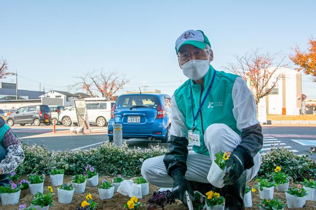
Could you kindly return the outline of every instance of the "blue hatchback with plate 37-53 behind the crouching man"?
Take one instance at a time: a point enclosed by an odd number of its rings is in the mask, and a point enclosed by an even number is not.
[[[166,94],[124,94],[118,97],[111,110],[107,135],[113,142],[113,125],[122,124],[123,139],[170,138],[171,97]]]

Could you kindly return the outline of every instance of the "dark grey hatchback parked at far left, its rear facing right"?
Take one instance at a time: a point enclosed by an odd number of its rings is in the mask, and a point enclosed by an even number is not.
[[[15,113],[7,117],[8,126],[13,126],[14,124],[24,126],[27,123],[33,123],[35,126],[39,126],[41,123],[50,125],[51,121],[51,110],[47,105],[20,107]]]

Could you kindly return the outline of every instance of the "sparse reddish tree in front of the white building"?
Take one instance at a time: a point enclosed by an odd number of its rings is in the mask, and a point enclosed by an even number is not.
[[[285,56],[276,62],[278,55],[270,55],[268,52],[263,54],[256,49],[243,56],[235,55],[237,62],[229,63],[224,68],[250,82],[250,90],[258,105],[260,98],[271,93],[281,79],[283,73],[279,69],[287,66],[283,64]]]

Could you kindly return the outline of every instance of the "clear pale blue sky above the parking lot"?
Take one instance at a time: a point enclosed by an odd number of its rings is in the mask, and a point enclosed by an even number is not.
[[[131,79],[124,90],[146,82],[172,94],[186,80],[174,46],[188,29],[208,36],[217,70],[235,54],[288,55],[316,37],[315,0],[6,0],[0,8],[0,58],[18,69],[18,88],[29,90],[41,82],[45,90],[75,92],[75,77],[103,68]],[[302,80],[303,93],[316,98],[316,83]]]

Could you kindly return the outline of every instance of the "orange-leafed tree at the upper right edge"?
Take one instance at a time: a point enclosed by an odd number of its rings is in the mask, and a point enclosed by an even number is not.
[[[295,54],[289,55],[290,59],[296,65],[300,66],[297,70],[304,70],[305,74],[312,75],[313,81],[316,82],[316,40],[309,40],[308,52],[301,52],[296,46]]]

